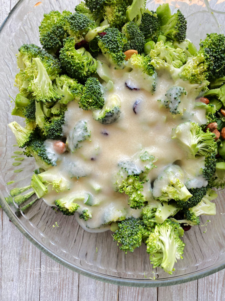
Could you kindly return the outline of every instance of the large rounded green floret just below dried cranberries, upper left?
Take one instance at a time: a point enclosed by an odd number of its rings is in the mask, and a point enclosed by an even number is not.
[[[75,44],[73,38],[67,38],[60,49],[59,60],[70,77],[85,82],[89,76],[96,73],[97,63],[84,47],[76,50]]]

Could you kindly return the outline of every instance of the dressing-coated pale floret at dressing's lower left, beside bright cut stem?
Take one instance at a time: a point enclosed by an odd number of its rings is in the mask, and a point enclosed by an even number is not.
[[[52,185],[52,190],[55,190],[57,193],[70,190],[70,182],[63,176],[55,174],[52,169],[41,172],[35,176],[37,176],[43,184],[47,184],[46,187]]]

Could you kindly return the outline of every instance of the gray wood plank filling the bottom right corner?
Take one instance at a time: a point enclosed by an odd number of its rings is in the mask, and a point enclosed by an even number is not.
[[[198,280],[197,301],[224,301],[225,300],[225,270]]]

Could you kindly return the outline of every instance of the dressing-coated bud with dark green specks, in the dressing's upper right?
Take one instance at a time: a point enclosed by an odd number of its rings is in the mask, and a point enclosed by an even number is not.
[[[172,114],[180,114],[181,112],[178,110],[178,105],[181,102],[181,96],[186,95],[187,92],[184,88],[179,86],[174,86],[167,90],[165,94],[167,100],[164,101],[165,107],[170,109],[170,113]]]

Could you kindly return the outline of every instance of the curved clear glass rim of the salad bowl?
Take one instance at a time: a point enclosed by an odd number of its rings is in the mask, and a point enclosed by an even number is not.
[[[4,25],[6,22],[10,19],[10,16],[13,14],[13,12],[16,10],[17,6],[20,5],[23,2],[23,0],[19,0],[16,5],[11,9],[5,20],[2,22],[0,26],[0,34],[2,29],[4,28]],[[130,286],[130,287],[162,287],[162,286],[170,286],[170,285],[176,285],[181,284],[189,281],[194,281],[199,278],[203,278],[206,276],[209,276],[211,274],[214,274],[216,272],[221,271],[225,268],[225,262],[224,264],[218,264],[213,265],[210,268],[207,268],[206,270],[199,271],[199,272],[193,272],[189,275],[184,276],[176,276],[170,279],[161,279],[161,280],[134,280],[134,279],[122,279],[122,278],[116,278],[107,276],[101,273],[95,273],[90,272],[86,269],[82,269],[76,265],[73,265],[66,260],[60,258],[59,256],[56,256],[54,253],[50,252],[46,247],[44,247],[43,244],[41,244],[38,240],[35,239],[35,237],[29,233],[19,222],[16,216],[13,214],[13,212],[10,210],[10,207],[4,200],[4,197],[1,194],[0,191],[0,205],[10,219],[10,221],[16,226],[16,228],[32,243],[34,244],[41,252],[45,253],[47,256],[49,256],[51,259],[55,260],[56,262],[60,263],[61,265],[65,266],[66,268],[71,269],[74,272],[77,272],[81,275],[93,278],[95,280],[108,282],[110,284],[116,284],[116,285],[123,285],[123,286]]]

